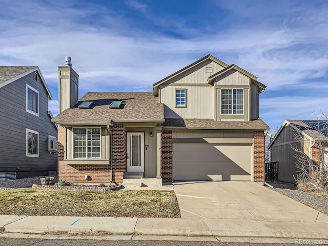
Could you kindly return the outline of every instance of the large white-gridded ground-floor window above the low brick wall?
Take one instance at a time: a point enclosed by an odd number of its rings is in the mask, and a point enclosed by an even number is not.
[[[80,159],[101,158],[101,129],[74,128],[73,129],[74,157]]]

